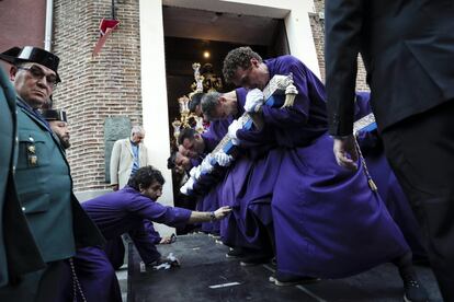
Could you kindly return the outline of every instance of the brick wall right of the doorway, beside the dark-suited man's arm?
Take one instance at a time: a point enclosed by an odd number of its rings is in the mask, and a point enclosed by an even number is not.
[[[314,0],[314,4],[316,12],[310,14],[310,26],[313,27],[314,42],[317,49],[318,63],[320,66],[321,81],[325,82],[325,0]],[[366,72],[361,56],[359,56],[357,63],[356,90],[368,91],[370,89],[365,81]]]

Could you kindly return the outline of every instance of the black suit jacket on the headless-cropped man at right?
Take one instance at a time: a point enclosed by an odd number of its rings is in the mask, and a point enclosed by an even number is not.
[[[378,129],[454,98],[453,0],[327,0],[329,132],[352,132],[361,53]]]

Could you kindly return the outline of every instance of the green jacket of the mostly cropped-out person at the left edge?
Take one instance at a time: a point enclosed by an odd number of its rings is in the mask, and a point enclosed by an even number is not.
[[[0,68],[0,287],[44,268],[14,186],[16,164],[15,93]]]

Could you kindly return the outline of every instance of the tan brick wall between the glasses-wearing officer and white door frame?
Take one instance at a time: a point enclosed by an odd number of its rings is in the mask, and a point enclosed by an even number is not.
[[[101,53],[91,57],[102,18],[111,18],[111,0],[56,0],[53,51],[60,57],[63,83],[54,106],[68,113],[68,159],[75,190],[106,188],[104,119],[128,116],[141,124],[138,0],[115,1],[121,24]]]

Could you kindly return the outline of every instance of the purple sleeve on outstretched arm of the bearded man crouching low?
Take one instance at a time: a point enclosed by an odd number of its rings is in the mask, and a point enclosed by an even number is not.
[[[191,210],[162,206],[141,194],[138,194],[128,204],[128,211],[134,211],[143,219],[148,219],[170,226],[181,226],[188,223],[188,220],[191,217]]]

